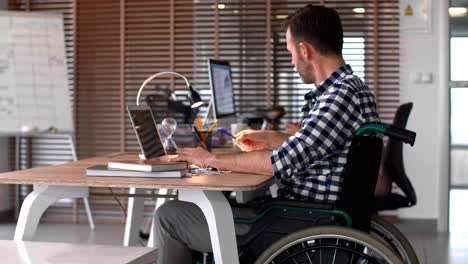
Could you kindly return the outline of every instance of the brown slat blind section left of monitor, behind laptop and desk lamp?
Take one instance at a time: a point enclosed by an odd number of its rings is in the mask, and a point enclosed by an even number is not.
[[[76,91],[72,95],[80,158],[136,150],[134,132],[123,109],[125,103],[135,104],[138,88],[148,76],[160,71],[176,71],[193,79],[192,1],[23,0],[10,1],[10,9],[75,16],[75,20],[73,17],[65,20],[65,23],[70,21],[65,34],[71,74],[72,66],[76,65]],[[159,87],[154,89],[151,87],[154,85]],[[179,96],[186,93],[181,79],[161,77],[146,87],[142,102],[146,95],[163,88],[180,90]],[[166,111],[167,107],[162,109]],[[27,142],[23,140],[22,143],[22,168],[60,163],[49,160],[42,152],[41,155],[32,154],[46,145],[28,145]],[[51,151],[61,155],[58,149]],[[30,187],[23,187],[22,198],[30,190]],[[114,190],[116,194],[125,192],[127,190]],[[91,189],[89,201],[96,222],[124,220],[112,196],[108,189]],[[126,198],[120,200],[125,206]],[[154,200],[145,201],[147,215],[152,213],[154,203]],[[52,207],[45,220],[86,221],[86,214],[82,203],[78,202],[73,210],[69,206]]]

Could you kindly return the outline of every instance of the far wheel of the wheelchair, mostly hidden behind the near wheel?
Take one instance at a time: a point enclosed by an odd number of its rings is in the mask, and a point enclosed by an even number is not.
[[[383,240],[401,257],[403,263],[419,264],[416,252],[406,237],[395,226],[385,222],[378,215],[372,216],[371,235]]]

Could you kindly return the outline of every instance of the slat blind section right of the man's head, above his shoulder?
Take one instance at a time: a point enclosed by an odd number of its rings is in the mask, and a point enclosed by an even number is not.
[[[340,13],[345,37],[363,44],[363,49],[345,46],[345,58],[352,58],[348,62],[373,89],[381,119],[391,122],[400,102],[399,2],[327,0],[325,5]],[[356,8],[364,13],[355,12]]]

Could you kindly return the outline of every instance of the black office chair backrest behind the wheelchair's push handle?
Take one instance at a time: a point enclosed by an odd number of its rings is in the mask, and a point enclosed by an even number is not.
[[[406,128],[413,103],[400,105],[393,120],[393,126]],[[391,194],[377,201],[378,210],[397,209],[416,204],[416,192],[405,172],[403,164],[403,142],[389,138],[382,158],[383,173],[403,191],[406,197]]]

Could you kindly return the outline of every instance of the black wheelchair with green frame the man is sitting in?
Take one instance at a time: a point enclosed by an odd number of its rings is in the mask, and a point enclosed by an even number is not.
[[[235,218],[236,224],[252,225],[249,233],[237,236],[240,263],[403,263],[394,240],[370,234],[376,230],[371,219],[382,153],[379,134],[411,145],[416,137],[384,123],[358,129],[336,204],[275,198],[249,205],[250,217]],[[393,234],[378,223],[385,234]]]

